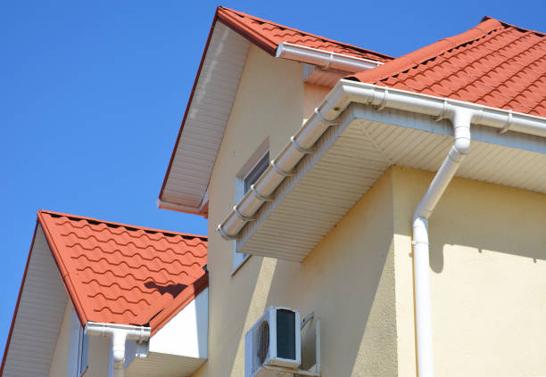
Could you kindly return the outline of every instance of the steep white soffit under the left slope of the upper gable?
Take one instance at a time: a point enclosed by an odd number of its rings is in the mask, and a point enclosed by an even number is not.
[[[250,42],[216,22],[161,201],[200,211]]]

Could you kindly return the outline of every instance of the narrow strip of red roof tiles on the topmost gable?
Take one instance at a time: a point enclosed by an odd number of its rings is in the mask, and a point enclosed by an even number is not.
[[[218,20],[228,27],[236,30],[243,37],[248,38],[252,43],[260,46],[272,55],[276,53],[278,45],[287,42],[374,61],[390,61],[393,59],[391,56],[383,53],[376,53],[354,45],[337,42],[333,39],[319,37],[298,29],[288,28],[275,22],[262,20],[250,14],[234,11],[223,6],[219,6],[217,17]]]

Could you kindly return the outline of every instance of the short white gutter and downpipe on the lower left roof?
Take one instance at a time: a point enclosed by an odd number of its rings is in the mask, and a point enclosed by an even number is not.
[[[143,357],[148,354],[150,327],[87,322],[84,332],[87,335],[112,339],[113,377],[123,377],[125,374],[125,342],[127,340],[136,340],[138,356]]]

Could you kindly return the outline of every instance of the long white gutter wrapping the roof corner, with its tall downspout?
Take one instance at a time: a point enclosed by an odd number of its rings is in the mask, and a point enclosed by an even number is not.
[[[418,375],[432,377],[434,367],[428,275],[428,217],[468,152],[470,124],[500,128],[501,134],[511,130],[546,137],[546,119],[471,102],[340,80],[310,119],[291,137],[290,143],[287,143],[277,158],[271,161],[258,181],[252,184],[251,190],[244,194],[243,199],[218,226],[219,234],[228,240],[236,239],[244,225],[254,220],[261,205],[271,199],[271,195],[285,177],[294,174],[294,168],[303,156],[313,152],[313,146],[318,138],[328,127],[340,123],[336,119],[352,102],[377,106],[377,111],[389,108],[430,115],[437,117],[438,120],[451,119],[453,124],[454,143],[451,151],[434,176],[425,196],[419,202],[413,217]]]

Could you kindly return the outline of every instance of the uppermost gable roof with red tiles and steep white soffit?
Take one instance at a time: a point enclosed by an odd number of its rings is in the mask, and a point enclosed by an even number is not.
[[[373,61],[393,59],[218,7],[161,184],[159,208],[207,216],[208,184],[249,47],[252,43],[275,56],[284,42]]]

